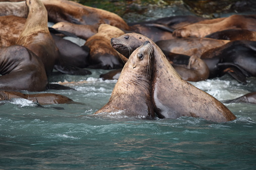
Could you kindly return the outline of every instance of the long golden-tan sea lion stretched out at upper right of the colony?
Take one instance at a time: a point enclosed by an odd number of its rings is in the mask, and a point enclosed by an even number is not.
[[[227,18],[215,19],[208,23],[202,21],[178,28],[174,30],[173,35],[175,37],[205,37],[209,34],[228,29],[256,31],[256,16],[232,15]]]

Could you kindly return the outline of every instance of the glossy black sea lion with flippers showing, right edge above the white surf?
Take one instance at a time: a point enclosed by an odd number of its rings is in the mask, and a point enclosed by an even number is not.
[[[210,69],[210,78],[229,73],[241,83],[246,77],[256,76],[256,42],[231,41],[224,46],[205,52],[201,59]]]

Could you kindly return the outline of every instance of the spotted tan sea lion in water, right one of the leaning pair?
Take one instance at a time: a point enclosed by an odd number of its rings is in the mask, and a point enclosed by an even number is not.
[[[235,115],[210,94],[183,80],[170,65],[161,49],[147,37],[130,33],[112,38],[111,43],[119,53],[129,54],[131,46],[149,41],[154,47],[154,73],[152,79],[152,102],[160,118],[181,116],[201,117],[216,122],[234,120]],[[119,80],[118,80],[119,81]]]

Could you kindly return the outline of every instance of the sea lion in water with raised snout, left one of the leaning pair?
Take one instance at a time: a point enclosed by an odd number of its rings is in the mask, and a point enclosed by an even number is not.
[[[151,102],[154,49],[146,41],[125,63],[109,102],[94,114],[155,117]]]

